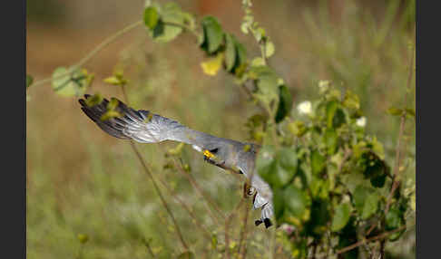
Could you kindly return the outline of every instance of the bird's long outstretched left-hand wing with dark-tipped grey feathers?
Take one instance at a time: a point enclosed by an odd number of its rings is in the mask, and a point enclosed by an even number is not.
[[[90,95],[84,95],[88,100]],[[149,110],[133,110],[118,100],[115,108],[122,116],[101,120],[107,111],[108,100],[89,107],[86,101],[80,99],[84,113],[109,135],[119,139],[133,139],[141,143],[157,143],[163,140],[175,140],[196,146],[196,149],[216,149],[220,143],[237,142],[222,139],[201,131],[189,129],[176,120],[153,114]],[[240,143],[240,142],[237,142]]]

